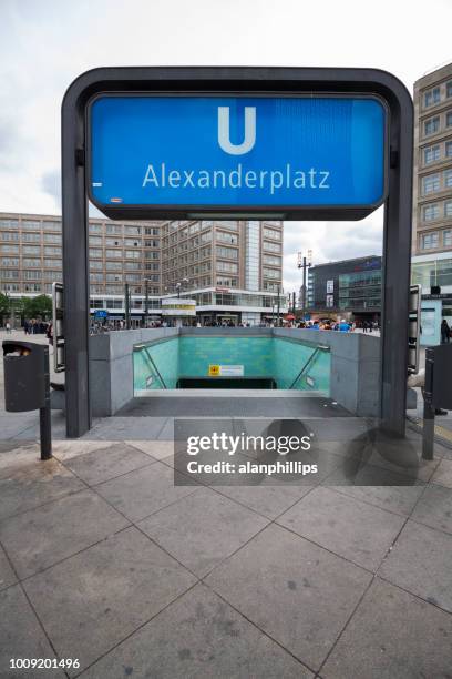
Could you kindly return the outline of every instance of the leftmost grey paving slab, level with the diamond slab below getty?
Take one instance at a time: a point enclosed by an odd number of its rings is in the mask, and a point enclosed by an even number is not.
[[[0,540],[19,577],[25,578],[127,525],[99,495],[82,490],[4,519]]]

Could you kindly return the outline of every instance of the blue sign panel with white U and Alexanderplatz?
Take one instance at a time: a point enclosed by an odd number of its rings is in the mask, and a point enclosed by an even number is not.
[[[387,195],[377,97],[97,95],[89,195],[100,210],[360,209]]]

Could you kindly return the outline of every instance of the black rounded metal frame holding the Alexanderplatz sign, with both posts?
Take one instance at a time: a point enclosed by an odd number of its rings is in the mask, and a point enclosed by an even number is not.
[[[306,92],[373,94],[389,110],[388,196],[384,210],[382,341],[380,362],[381,426],[403,436],[407,402],[408,300],[411,256],[413,104],[394,75],[378,69],[260,67],[114,67],[88,71],[69,88],[62,104],[62,217],[65,305],[66,433],[91,427],[89,364],[89,266],[86,195],[86,107],[101,92]],[[236,213],[237,211],[235,211]],[[273,211],[275,212],[275,211]],[[343,207],[316,209],[302,219],[343,219]],[[368,214],[369,211],[366,212]],[[206,219],[208,212],[199,215]],[[233,212],[229,216],[233,216]],[[350,210],[348,220],[362,219]],[[114,219],[132,219],[114,211]],[[176,217],[172,213],[171,219]],[[342,215],[342,216],[340,216]],[[110,216],[110,215],[109,215]],[[168,215],[165,215],[166,219]],[[215,215],[216,216],[216,215]],[[133,219],[155,219],[135,212]],[[196,219],[193,215],[193,219]],[[237,217],[239,219],[239,217]],[[271,219],[263,214],[263,219]],[[290,219],[286,216],[285,219]]]

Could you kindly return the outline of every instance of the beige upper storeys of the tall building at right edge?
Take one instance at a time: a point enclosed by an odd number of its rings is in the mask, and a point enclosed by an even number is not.
[[[452,252],[452,63],[414,83],[413,255]]]

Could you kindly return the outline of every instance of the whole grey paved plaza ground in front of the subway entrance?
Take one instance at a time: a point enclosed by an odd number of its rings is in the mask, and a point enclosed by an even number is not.
[[[207,488],[145,438],[0,448],[2,678],[18,657],[83,679],[451,676],[441,448],[398,468],[331,442],[310,485]]]

